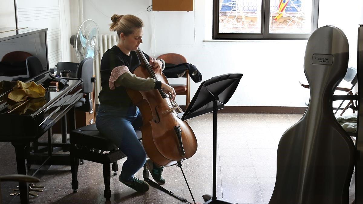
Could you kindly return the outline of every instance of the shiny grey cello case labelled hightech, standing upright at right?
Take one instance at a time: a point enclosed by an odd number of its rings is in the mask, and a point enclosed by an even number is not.
[[[310,101],[303,117],[282,135],[269,204],[348,204],[354,144],[333,114],[332,96],[348,65],[348,40],[339,28],[313,32],[304,72]]]

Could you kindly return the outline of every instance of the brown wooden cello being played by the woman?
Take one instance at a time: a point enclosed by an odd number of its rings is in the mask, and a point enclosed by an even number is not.
[[[134,70],[137,77],[153,78],[168,84],[163,73],[154,73],[143,52],[136,54],[141,65]],[[143,146],[148,157],[160,166],[172,166],[176,162],[191,158],[197,151],[197,140],[186,121],[177,116],[179,105],[163,90],[138,91],[126,89],[131,101],[142,115]]]

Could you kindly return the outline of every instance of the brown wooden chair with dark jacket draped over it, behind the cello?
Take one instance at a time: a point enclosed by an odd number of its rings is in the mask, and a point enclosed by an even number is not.
[[[165,63],[167,63],[167,64],[178,65],[178,64],[187,63],[187,59],[185,59],[184,56],[182,56],[181,54],[176,54],[176,53],[162,54],[158,57],[158,59],[159,58],[164,60]],[[176,95],[186,95],[187,96],[186,103],[185,103],[186,104],[185,109],[186,109],[190,103],[190,89],[189,89],[190,77],[189,77],[188,70],[186,71],[186,74],[183,77],[187,78],[187,82],[185,85],[184,84],[170,84],[170,86],[175,89]]]

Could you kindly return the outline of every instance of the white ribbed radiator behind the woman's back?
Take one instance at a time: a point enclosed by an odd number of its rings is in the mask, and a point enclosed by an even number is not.
[[[101,59],[103,56],[103,53],[106,52],[106,50],[110,49],[112,46],[116,45],[118,42],[118,37],[117,35],[111,35],[111,34],[102,34],[99,35],[99,39],[101,39],[101,44],[100,44],[100,52],[98,54],[98,57],[96,58],[96,60],[93,62],[93,73],[95,75],[96,78],[96,82],[95,82],[95,103],[99,104],[98,101],[98,94],[99,91],[101,91],[101,74],[99,72],[100,70],[100,65],[101,65]]]

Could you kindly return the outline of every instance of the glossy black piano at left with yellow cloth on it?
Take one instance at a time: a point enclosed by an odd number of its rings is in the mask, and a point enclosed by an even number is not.
[[[60,90],[48,90],[49,81],[56,77],[52,76],[48,66],[46,30],[28,28],[0,33],[0,142],[11,142],[15,147],[18,174],[27,174],[29,144],[36,143],[65,114],[74,111],[74,104],[83,97],[82,80],[77,78],[65,78],[67,85]],[[35,76],[30,75],[32,72],[21,59],[24,53],[25,57],[26,53],[36,56],[42,64]],[[18,103],[10,101],[8,93],[17,80],[43,85],[45,97]],[[74,129],[74,122],[69,127]],[[52,157],[52,151],[48,151],[47,159]],[[19,186],[21,203],[29,203],[27,183],[19,182]]]

